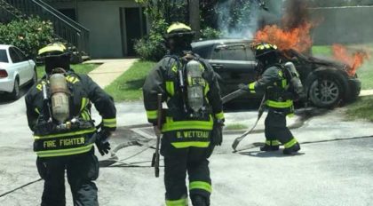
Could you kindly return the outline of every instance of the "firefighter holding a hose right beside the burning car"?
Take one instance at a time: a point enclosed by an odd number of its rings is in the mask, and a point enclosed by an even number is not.
[[[250,93],[266,93],[266,143],[260,150],[276,151],[282,144],[285,147],[284,155],[297,153],[300,149],[299,143],[286,126],[286,116],[294,113],[294,95],[288,90],[289,81],[284,75],[284,66],[277,46],[267,43],[256,45],[255,58],[258,60],[258,72],[261,77],[254,83],[240,84],[239,87]]]

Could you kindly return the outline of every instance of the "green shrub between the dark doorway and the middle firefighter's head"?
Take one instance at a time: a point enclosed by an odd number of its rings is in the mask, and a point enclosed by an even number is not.
[[[163,34],[167,26],[164,20],[156,20],[152,23],[149,35],[135,41],[134,49],[140,59],[157,61],[163,58],[166,52]]]

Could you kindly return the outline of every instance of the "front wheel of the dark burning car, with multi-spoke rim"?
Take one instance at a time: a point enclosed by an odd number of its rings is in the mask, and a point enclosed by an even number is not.
[[[334,107],[342,97],[343,89],[336,78],[318,76],[309,87],[309,99],[316,107]]]

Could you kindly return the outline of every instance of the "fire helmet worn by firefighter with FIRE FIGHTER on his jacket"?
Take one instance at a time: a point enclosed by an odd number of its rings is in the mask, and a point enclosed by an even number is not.
[[[70,56],[65,44],[52,43],[39,50],[38,55],[44,59],[45,72],[51,74],[54,68],[70,69]]]

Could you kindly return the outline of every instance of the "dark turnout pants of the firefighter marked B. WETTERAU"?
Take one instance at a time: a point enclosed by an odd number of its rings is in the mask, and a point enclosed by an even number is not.
[[[187,205],[187,174],[190,196],[199,194],[210,200],[211,179],[207,159],[212,150],[211,146],[207,148],[175,148],[163,136],[161,154],[164,156],[164,185],[167,206]]]

